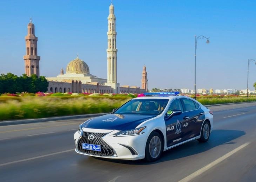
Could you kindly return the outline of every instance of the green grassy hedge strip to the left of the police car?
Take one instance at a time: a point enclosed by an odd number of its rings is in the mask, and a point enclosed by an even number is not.
[[[65,98],[65,97],[63,97]],[[0,120],[112,112],[130,98],[26,97],[0,103]]]

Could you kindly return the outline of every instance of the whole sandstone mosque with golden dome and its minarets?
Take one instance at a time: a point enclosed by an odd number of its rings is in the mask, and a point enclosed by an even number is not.
[[[144,93],[148,90],[146,66],[143,66],[141,88],[139,86],[120,86],[117,82],[117,48],[116,48],[116,18],[114,6],[109,6],[108,15],[108,47],[107,47],[107,79],[90,74],[89,66],[78,56],[70,61],[66,73],[61,69],[60,75],[46,77],[49,82],[47,92],[73,93]],[[39,77],[40,56],[37,54],[38,37],[35,36],[35,26],[32,20],[28,23],[28,35],[25,37],[26,55],[25,73],[28,76],[36,74]]]

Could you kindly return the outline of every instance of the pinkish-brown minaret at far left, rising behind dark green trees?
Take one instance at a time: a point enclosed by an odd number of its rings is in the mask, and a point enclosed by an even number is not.
[[[23,56],[27,76],[36,74],[39,77],[40,56],[37,55],[37,40],[38,38],[35,36],[35,26],[32,23],[32,19],[30,19],[28,23],[28,35],[25,37],[26,55]]]

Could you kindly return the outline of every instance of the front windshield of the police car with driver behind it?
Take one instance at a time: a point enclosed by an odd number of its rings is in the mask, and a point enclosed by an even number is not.
[[[122,105],[115,114],[160,114],[168,99],[134,99]]]

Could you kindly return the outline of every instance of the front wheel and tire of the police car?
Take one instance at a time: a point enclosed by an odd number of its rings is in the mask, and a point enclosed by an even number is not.
[[[156,161],[163,152],[163,140],[159,133],[152,132],[147,140],[145,149],[145,160],[148,162]]]

